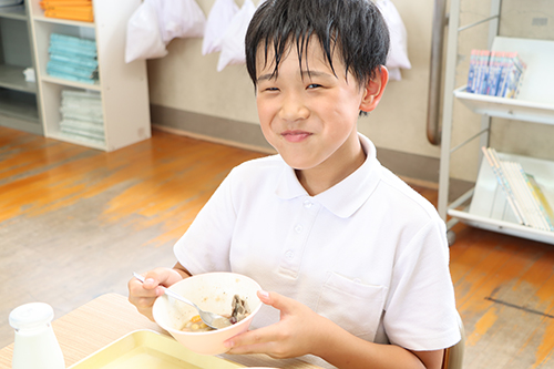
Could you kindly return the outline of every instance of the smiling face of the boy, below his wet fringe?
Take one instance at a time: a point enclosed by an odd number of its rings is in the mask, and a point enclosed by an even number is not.
[[[334,73],[317,40],[311,40],[305,55],[300,70],[296,47],[290,48],[277,78],[271,78],[274,65],[264,65],[263,51],[258,51],[256,101],[261,131],[296,170],[348,165],[352,154],[361,150],[357,134],[359,111],[375,109],[365,105],[371,89],[360,86],[350,73],[347,81],[338,55],[332,59]],[[273,60],[271,52],[267,58]],[[377,105],[378,99],[371,101]]]

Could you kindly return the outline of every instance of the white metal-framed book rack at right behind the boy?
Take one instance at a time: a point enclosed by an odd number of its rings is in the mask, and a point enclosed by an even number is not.
[[[448,222],[451,243],[455,237],[451,228],[461,221],[474,227],[554,244],[554,232],[538,230],[520,225],[515,221],[515,216],[506,205],[505,195],[482,155],[480,155],[481,166],[475,186],[449,203],[451,155],[475,139],[480,140],[480,146],[489,146],[492,116],[530,122],[530,124],[554,124],[554,90],[551,88],[554,84],[554,70],[552,69],[554,42],[499,37],[500,0],[492,1],[490,18],[474,24],[460,27],[460,1],[452,0],[449,21],[439,178],[439,214],[444,221],[449,216],[451,217]],[[490,22],[489,43],[491,50],[516,51],[522,60],[527,63],[527,71],[517,99],[468,93],[465,86],[454,89],[459,32],[484,21]],[[481,131],[476,135],[452,147],[454,99],[458,99],[474,113],[481,114],[482,124]],[[554,162],[507,153],[501,153],[500,155],[504,160],[521,163],[525,172],[533,174],[541,184],[548,203],[554,206]],[[471,202],[469,206],[465,205],[468,202]]]

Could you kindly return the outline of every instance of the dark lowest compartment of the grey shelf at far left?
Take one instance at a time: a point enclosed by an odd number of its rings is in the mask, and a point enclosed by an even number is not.
[[[0,114],[38,123],[37,95],[0,88]]]

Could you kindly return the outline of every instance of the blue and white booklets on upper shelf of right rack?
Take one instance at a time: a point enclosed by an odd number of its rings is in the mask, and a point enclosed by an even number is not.
[[[526,68],[516,52],[472,50],[466,92],[517,98]]]

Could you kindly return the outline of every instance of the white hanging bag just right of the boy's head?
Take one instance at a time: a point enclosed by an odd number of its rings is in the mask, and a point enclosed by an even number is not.
[[[406,25],[400,18],[400,13],[390,0],[377,1],[377,7],[381,11],[384,21],[389,28],[390,34],[390,51],[387,58],[387,68],[393,69],[411,69],[412,65],[408,59],[408,32]],[[392,79],[400,80],[400,71],[392,73]]]

